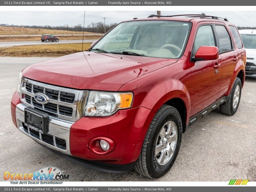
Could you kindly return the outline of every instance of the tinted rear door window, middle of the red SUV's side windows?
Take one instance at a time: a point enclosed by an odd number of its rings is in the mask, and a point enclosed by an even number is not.
[[[227,52],[232,49],[232,43],[231,38],[229,36],[229,33],[227,32],[227,29],[223,25],[215,25],[217,38],[219,41],[219,52]]]

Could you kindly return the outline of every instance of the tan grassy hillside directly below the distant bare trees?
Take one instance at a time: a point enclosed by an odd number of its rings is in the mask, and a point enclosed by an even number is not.
[[[0,26],[0,35],[42,35],[42,34],[53,34],[53,35],[54,34],[83,34],[83,32]],[[85,34],[95,34],[95,33],[85,32]]]

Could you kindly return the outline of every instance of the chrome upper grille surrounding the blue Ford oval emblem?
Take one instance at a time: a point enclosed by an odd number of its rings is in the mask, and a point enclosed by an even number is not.
[[[35,101],[34,95],[40,92],[49,97],[48,103]],[[83,115],[87,92],[22,78],[20,97],[27,106],[46,111],[50,116],[75,122]]]

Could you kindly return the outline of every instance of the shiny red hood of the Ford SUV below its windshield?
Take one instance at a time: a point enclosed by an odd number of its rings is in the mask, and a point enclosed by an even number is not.
[[[118,91],[123,84],[177,61],[85,51],[31,65],[22,75],[74,89]]]

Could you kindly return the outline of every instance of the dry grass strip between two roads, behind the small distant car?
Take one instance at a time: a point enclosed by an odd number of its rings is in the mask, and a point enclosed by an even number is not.
[[[102,35],[86,35],[86,36],[60,36],[59,40],[75,40],[75,39],[99,39]],[[40,41],[41,37],[0,37],[0,42],[3,41]]]

